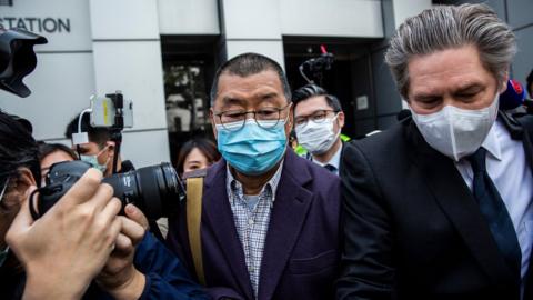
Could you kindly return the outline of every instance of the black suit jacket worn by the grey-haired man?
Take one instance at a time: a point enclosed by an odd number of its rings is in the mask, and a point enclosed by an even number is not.
[[[526,136],[524,147],[531,166]],[[411,118],[350,143],[343,161],[339,299],[519,298],[520,274],[507,269],[466,183]]]

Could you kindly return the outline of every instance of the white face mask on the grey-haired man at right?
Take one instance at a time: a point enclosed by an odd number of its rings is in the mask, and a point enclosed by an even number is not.
[[[491,106],[480,110],[445,106],[430,114],[416,114],[413,120],[424,140],[436,151],[459,161],[474,153],[483,143],[497,117],[496,94]]]

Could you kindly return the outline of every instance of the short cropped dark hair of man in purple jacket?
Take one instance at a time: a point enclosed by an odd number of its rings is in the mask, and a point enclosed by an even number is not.
[[[210,92],[211,106],[214,104],[219,92],[219,79],[221,74],[228,73],[244,78],[266,70],[272,70],[278,74],[283,87],[283,94],[286,101],[291,102],[291,87],[281,66],[265,56],[249,52],[228,60],[217,70]]]

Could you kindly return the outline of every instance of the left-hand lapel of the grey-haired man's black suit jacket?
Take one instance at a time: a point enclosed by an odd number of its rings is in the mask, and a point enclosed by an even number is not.
[[[420,169],[436,202],[491,280],[495,284],[513,284],[514,277],[453,161],[432,149],[413,122],[408,126],[409,140],[416,149],[410,152],[410,159]]]

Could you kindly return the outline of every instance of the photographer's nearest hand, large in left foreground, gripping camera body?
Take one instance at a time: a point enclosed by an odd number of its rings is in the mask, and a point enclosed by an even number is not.
[[[122,220],[121,202],[101,180],[89,169],[38,220],[24,201],[6,240],[27,271],[28,299],[79,299],[105,266]]]

